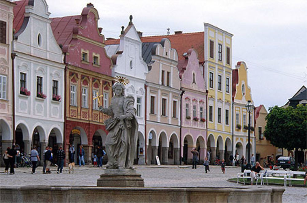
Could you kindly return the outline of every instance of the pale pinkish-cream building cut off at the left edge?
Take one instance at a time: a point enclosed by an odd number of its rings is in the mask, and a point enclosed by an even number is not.
[[[13,33],[13,7],[14,3],[6,0],[0,1],[0,152],[11,147],[13,142],[13,79],[11,43]]]

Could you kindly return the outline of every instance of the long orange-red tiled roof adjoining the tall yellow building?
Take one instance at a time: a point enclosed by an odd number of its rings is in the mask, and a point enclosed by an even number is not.
[[[141,37],[141,40],[142,42],[159,42],[163,38],[168,38],[171,41],[171,47],[177,50],[179,60],[185,58],[182,55],[189,48],[193,48],[198,54],[199,62],[204,62],[204,32],[146,36]]]

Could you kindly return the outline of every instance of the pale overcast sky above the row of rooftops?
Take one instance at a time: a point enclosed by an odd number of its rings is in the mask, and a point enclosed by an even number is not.
[[[307,1],[104,1],[47,0],[51,17],[79,15],[88,2],[99,12],[107,37],[118,38],[130,14],[143,36],[204,30],[203,23],[234,34],[232,68],[248,67],[255,106],[284,105],[307,87]]]

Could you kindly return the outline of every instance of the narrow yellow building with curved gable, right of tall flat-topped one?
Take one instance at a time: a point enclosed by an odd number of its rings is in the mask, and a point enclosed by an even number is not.
[[[242,155],[247,159],[248,145],[248,116],[246,103],[251,100],[251,88],[247,83],[247,65],[245,62],[238,62],[235,70],[232,72],[233,77],[233,147],[234,154],[237,152],[239,157]],[[251,127],[254,127],[254,111],[250,114]],[[251,148],[250,155],[255,155],[255,133],[251,130]]]

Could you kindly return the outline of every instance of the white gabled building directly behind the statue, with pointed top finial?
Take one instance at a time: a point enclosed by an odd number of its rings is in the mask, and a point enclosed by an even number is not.
[[[112,43],[112,40],[109,43]],[[106,44],[109,43],[106,41]],[[148,67],[142,58],[142,42],[132,23],[132,16],[130,16],[129,25],[121,32],[120,43],[107,45],[105,49],[108,56],[112,58],[112,76],[129,79],[125,94],[135,99],[134,107],[137,109],[139,124],[137,157],[134,163],[145,164],[145,82]]]

